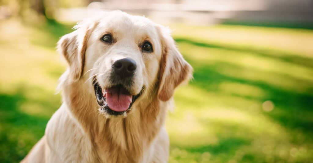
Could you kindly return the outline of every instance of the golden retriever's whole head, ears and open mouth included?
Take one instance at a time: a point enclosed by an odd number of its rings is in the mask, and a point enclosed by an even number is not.
[[[141,96],[167,101],[191,77],[192,68],[166,29],[145,17],[105,13],[63,36],[59,51],[69,63],[69,80],[85,81],[99,111],[126,116]],[[150,95],[148,95],[150,94]]]

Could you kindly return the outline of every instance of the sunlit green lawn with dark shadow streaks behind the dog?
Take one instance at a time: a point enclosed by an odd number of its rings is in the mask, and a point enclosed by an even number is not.
[[[0,162],[18,162],[61,104],[55,87],[65,64],[54,47],[71,29],[0,23]],[[195,71],[167,118],[170,162],[313,160],[312,30],[171,28]]]

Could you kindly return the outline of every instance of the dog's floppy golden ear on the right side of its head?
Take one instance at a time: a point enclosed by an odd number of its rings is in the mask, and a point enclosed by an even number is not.
[[[157,29],[162,43],[158,98],[167,101],[173,96],[177,86],[192,78],[193,69],[178,51],[169,29],[165,27],[157,27]]]

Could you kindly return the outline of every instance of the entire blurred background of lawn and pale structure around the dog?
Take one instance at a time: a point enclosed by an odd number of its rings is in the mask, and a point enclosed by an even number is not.
[[[169,162],[313,160],[312,0],[0,0],[0,162],[61,105],[58,39],[115,9],[169,26],[194,68],[167,117]]]

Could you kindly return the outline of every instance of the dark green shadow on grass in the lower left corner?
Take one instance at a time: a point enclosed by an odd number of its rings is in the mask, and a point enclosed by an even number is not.
[[[14,94],[0,93],[0,162],[19,162],[44,135],[45,126],[49,118],[32,116],[20,111],[20,105],[29,101],[25,96],[24,87],[17,89]],[[43,90],[35,90],[41,91]],[[53,100],[54,101],[54,100]],[[32,103],[36,103],[32,101]],[[56,104],[47,101],[37,101],[47,110]],[[57,108],[53,108],[54,110]]]

